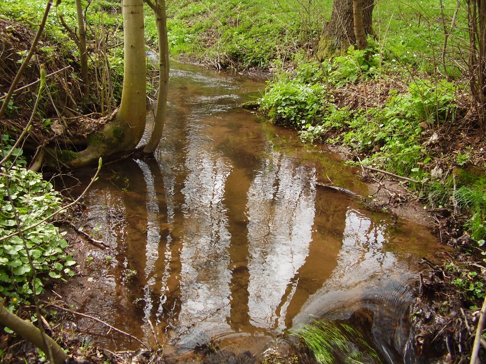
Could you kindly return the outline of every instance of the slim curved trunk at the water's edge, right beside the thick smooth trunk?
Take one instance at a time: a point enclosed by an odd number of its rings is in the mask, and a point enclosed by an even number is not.
[[[162,132],[164,131],[165,110],[167,106],[167,94],[169,92],[169,42],[167,40],[167,14],[165,10],[165,0],[157,0],[154,4],[147,1],[154,10],[156,17],[157,36],[158,36],[158,97],[157,109],[154,119],[154,126],[147,145],[143,149],[144,153],[154,153],[160,143]]]

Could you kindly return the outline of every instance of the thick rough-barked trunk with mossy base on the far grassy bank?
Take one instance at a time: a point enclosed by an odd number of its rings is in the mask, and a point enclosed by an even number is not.
[[[357,11],[361,8],[362,16],[358,19],[361,34],[361,26],[364,34],[372,33],[372,14],[374,8],[373,0],[361,0],[361,4],[353,4],[359,0],[334,0],[332,3],[331,18],[323,26],[323,32],[318,46],[319,58],[325,59],[336,50],[347,49],[350,45],[356,44],[354,5]],[[362,20],[361,20],[361,19]]]

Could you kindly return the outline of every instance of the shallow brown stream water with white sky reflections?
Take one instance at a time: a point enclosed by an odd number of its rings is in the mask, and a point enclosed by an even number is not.
[[[180,66],[170,87],[156,158],[104,166],[84,199],[86,229],[110,248],[79,252],[89,277],[77,307],[173,361],[215,348],[261,358],[318,317],[363,331],[383,362],[414,362],[408,286],[434,237],[320,186],[367,195],[338,156],[238,107],[261,82]],[[112,349],[137,347],[79,325]]]

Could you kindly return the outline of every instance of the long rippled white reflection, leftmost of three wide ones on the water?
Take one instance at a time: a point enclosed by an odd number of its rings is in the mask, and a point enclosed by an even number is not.
[[[230,331],[230,272],[226,179],[230,166],[218,155],[191,146],[184,194],[184,246],[181,251],[181,309],[178,344],[195,347]]]

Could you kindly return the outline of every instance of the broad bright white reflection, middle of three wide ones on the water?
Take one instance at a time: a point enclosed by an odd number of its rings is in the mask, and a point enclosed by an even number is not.
[[[274,153],[249,188],[248,306],[254,326],[285,328],[284,316],[295,289],[288,297],[285,292],[305,263],[312,241],[314,185],[315,170]]]

